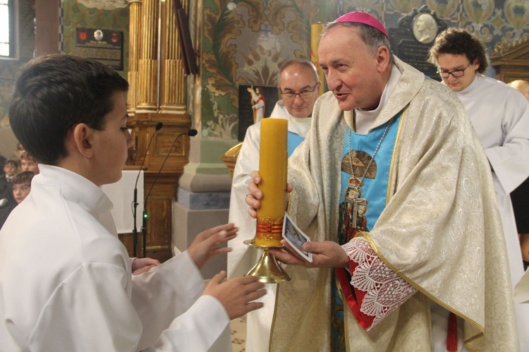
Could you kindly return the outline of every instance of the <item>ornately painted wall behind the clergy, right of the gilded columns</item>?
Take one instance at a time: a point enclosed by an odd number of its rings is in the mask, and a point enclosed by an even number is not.
[[[399,18],[423,5],[449,27],[478,35],[488,54],[497,42],[529,35],[527,1],[202,0],[200,99],[192,107],[195,126],[201,126],[202,138],[236,144],[238,86],[276,85],[282,62],[310,59],[312,23],[364,10],[382,20],[391,33]],[[494,76],[492,68],[487,75]]]

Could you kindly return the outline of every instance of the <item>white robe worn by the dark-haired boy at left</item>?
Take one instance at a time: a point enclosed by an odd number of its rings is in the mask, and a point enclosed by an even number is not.
[[[188,253],[133,276],[101,188],[39,168],[0,231],[0,350],[207,351],[229,316]]]

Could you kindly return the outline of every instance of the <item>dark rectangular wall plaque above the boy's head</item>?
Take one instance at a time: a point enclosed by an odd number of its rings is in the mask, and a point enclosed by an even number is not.
[[[75,28],[75,55],[123,71],[123,31]]]

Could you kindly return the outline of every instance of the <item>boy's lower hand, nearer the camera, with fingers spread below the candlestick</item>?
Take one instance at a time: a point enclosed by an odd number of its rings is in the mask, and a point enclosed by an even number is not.
[[[219,272],[209,281],[202,294],[217,298],[224,305],[230,320],[262,308],[262,302],[252,302],[267,293],[263,289],[265,284],[257,281],[257,277],[236,277],[222,282],[224,279],[226,272]]]

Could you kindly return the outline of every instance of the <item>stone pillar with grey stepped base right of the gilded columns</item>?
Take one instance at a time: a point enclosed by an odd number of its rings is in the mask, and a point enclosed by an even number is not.
[[[193,29],[201,28],[203,23],[202,1],[189,1],[188,4],[193,36]],[[200,52],[200,40],[195,41],[194,47]],[[202,137],[201,85],[200,73],[193,76],[193,80],[188,80],[188,87],[192,92],[188,99],[194,102],[191,105],[193,127],[197,129],[198,135],[190,139],[189,163],[184,166],[178,182],[177,200],[173,205],[175,253],[186,250],[201,231],[228,222],[231,174],[221,158],[236,142]],[[226,255],[215,255],[202,268],[202,275],[211,278],[221,270],[226,270]]]

